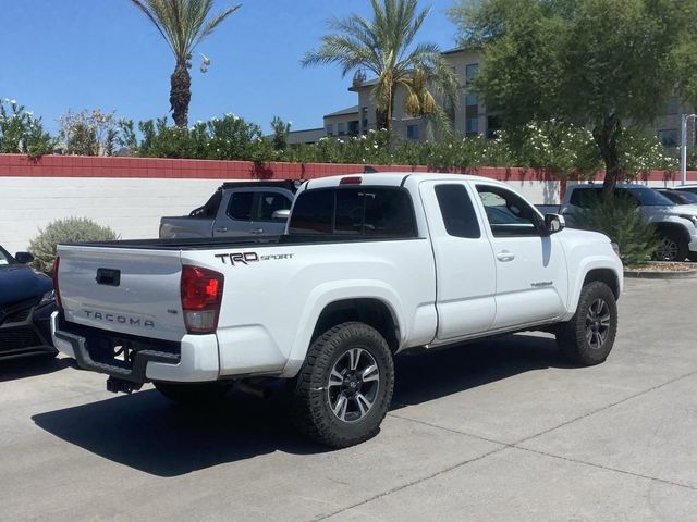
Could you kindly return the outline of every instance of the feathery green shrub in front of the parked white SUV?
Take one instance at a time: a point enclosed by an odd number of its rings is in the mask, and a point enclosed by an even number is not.
[[[624,264],[636,265],[651,260],[660,245],[656,227],[647,223],[627,197],[616,197],[612,202],[601,198],[589,208],[572,215],[575,226],[586,231],[600,232],[620,246],[620,257]]]

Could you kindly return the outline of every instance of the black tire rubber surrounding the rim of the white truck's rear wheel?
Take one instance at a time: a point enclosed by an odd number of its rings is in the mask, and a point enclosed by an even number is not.
[[[377,364],[378,388],[365,417],[346,422],[332,411],[329,381],[334,365],[356,348],[367,351]],[[364,323],[339,324],[320,335],[309,347],[305,363],[294,381],[293,421],[301,432],[325,446],[353,446],[378,434],[392,400],[393,388],[394,363],[384,338]]]

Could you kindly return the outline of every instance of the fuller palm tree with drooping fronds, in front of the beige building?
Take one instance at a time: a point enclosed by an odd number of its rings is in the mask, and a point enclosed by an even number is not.
[[[438,46],[412,46],[430,8],[418,11],[417,0],[370,0],[370,3],[372,20],[356,14],[331,20],[332,34],[325,35],[319,49],[307,52],[301,63],[339,64],[343,76],[352,71],[371,72],[376,76],[372,96],[378,123],[383,128],[390,128],[399,87],[406,89],[408,114],[447,121],[433,94],[454,107],[457,80]]]

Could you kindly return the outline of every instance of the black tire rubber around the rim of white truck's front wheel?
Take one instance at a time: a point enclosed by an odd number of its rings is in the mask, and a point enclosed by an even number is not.
[[[607,327],[607,336],[600,346],[592,346],[595,338],[589,340],[589,328],[594,328],[591,307],[600,301],[607,304],[610,321]],[[597,308],[597,307],[596,307]],[[596,324],[597,325],[597,324]],[[594,281],[584,285],[578,299],[576,313],[570,321],[562,323],[557,328],[557,344],[564,358],[572,364],[592,366],[603,362],[614,345],[617,333],[617,304],[614,294],[608,285]],[[600,334],[599,334],[600,335]]]

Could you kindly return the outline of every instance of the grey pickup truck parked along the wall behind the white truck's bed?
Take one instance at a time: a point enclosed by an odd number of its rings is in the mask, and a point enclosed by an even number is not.
[[[278,236],[298,181],[229,182],[186,216],[162,217],[160,238]]]

